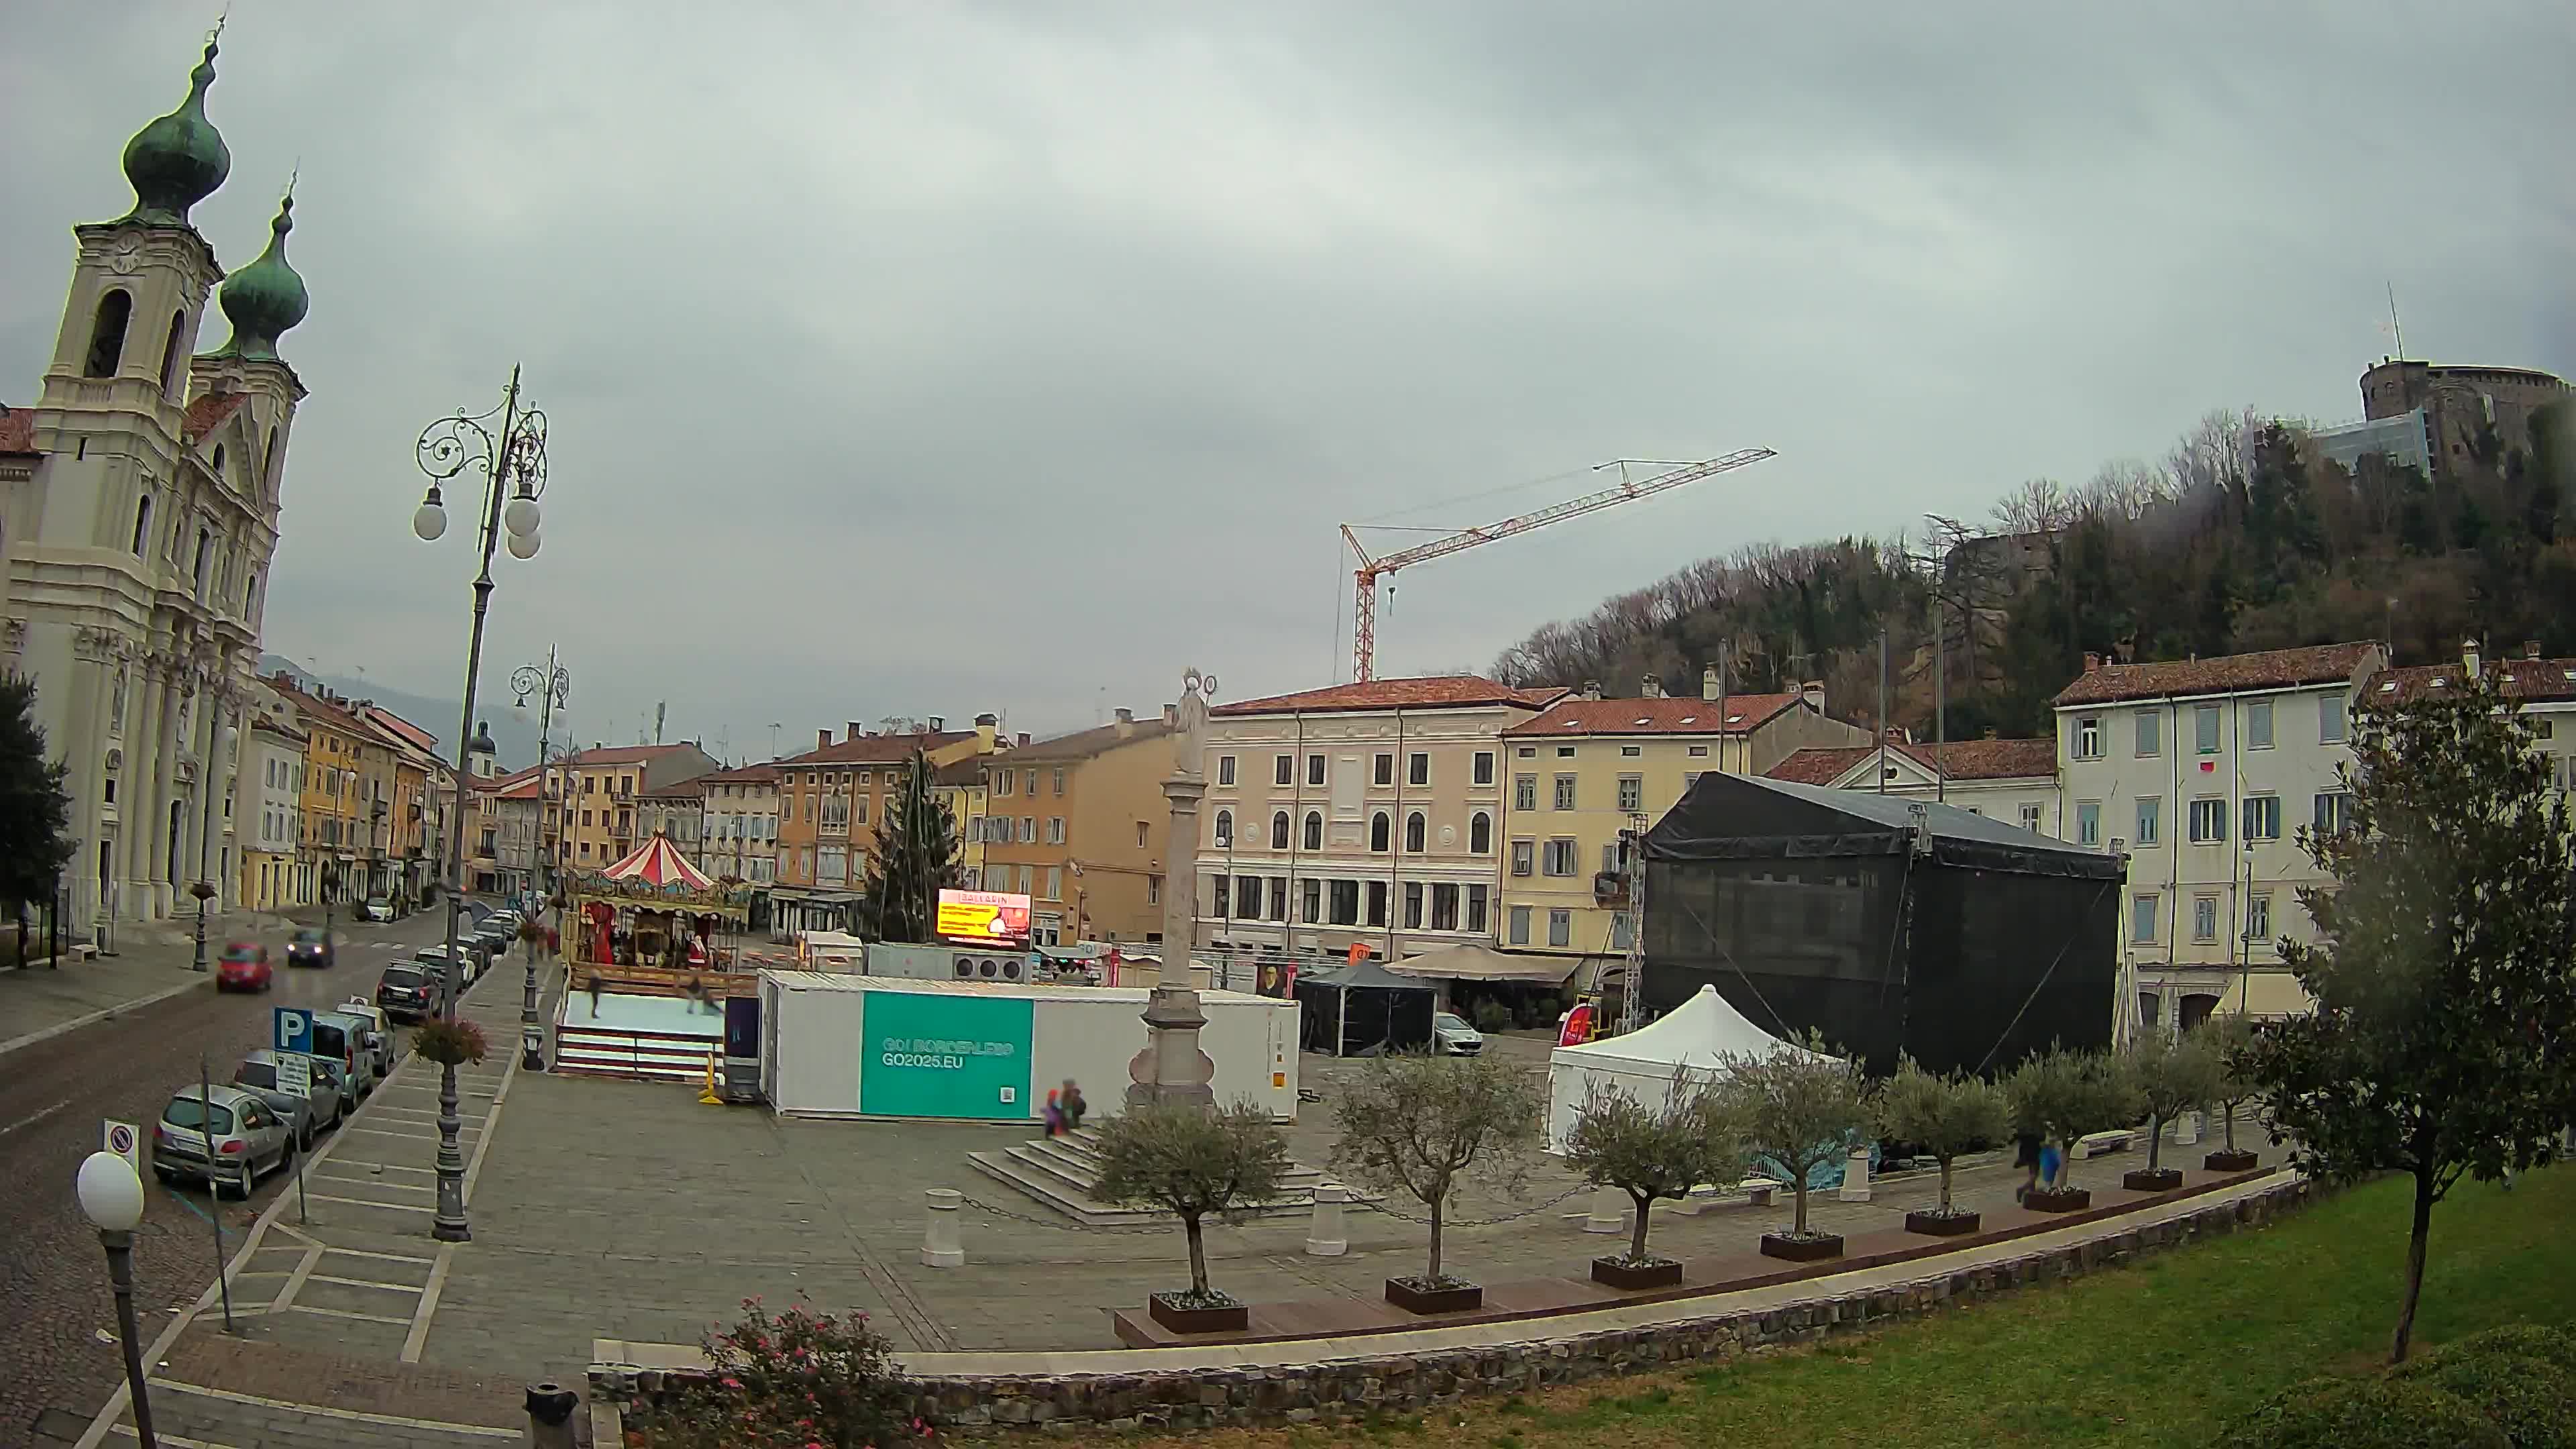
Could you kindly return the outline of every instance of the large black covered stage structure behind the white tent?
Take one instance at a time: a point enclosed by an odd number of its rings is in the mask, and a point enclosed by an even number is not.
[[[1646,833],[1646,1006],[1703,985],[1870,1073],[2107,1047],[2120,856],[1955,804],[1705,773]]]

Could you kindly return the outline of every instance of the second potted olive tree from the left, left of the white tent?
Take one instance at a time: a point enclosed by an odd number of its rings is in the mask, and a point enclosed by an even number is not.
[[[1432,1253],[1419,1276],[1386,1279],[1409,1312],[1484,1305],[1484,1289],[1440,1261],[1448,1199],[1468,1181],[1520,1191],[1540,1134],[1538,1080],[1504,1057],[1368,1057],[1332,1104],[1342,1140],[1332,1160],[1355,1183],[1401,1191],[1430,1209]]]

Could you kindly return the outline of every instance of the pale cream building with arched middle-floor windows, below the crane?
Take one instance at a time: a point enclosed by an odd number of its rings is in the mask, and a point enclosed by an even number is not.
[[[1492,944],[1502,735],[1561,696],[1427,676],[1211,709],[1198,944],[1309,959]]]

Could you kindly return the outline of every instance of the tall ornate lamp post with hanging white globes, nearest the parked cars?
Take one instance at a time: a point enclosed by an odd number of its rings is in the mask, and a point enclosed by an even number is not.
[[[500,415],[500,433],[487,423]],[[502,534],[513,559],[533,559],[538,547],[538,495],[546,492],[546,415],[520,407],[518,369],[510,369],[510,387],[492,413],[440,418],[420,431],[415,446],[420,472],[430,477],[430,490],[412,513],[412,534],[422,544],[435,544],[448,531],[448,513],[438,498],[438,485],[482,469],[484,498],[477,511],[477,547],[482,549],[474,575],[474,632],[466,639],[466,696],[456,724],[456,810],[448,817],[448,969],[440,972],[438,1013],[456,1021],[456,985],[464,975],[456,951],[456,915],[464,910],[464,856],[466,856],[466,789],[474,779],[474,681],[482,673],[484,614],[492,608],[492,549]],[[515,492],[513,492],[515,490]],[[464,1243],[474,1238],[466,1222],[466,1158],[456,1142],[464,1119],[456,1116],[456,1062],[438,1070],[438,1212],[430,1220],[430,1238]]]

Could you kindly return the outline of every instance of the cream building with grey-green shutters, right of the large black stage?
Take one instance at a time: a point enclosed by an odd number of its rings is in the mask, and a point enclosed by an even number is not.
[[[2352,706],[2388,668],[2375,642],[2117,665],[2084,655],[2058,691],[2061,838],[2128,853],[2123,951],[2141,1026],[2213,1011],[2285,1016],[2308,995],[2280,959],[2324,874],[2300,825],[2349,799]]]

